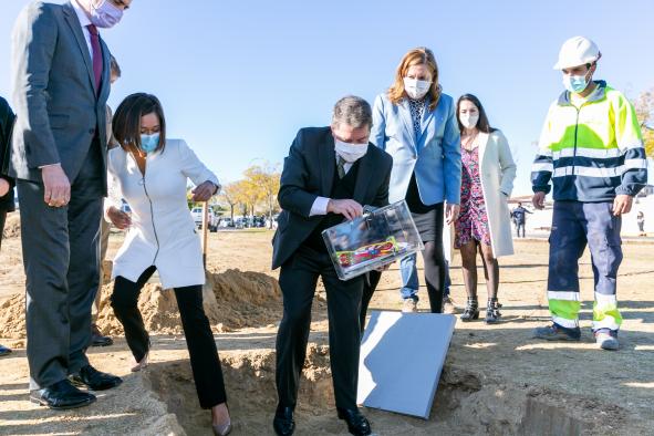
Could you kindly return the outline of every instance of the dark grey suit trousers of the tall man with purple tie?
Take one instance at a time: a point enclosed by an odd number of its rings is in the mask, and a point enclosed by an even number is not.
[[[89,364],[105,177],[100,142],[94,139],[71,180],[68,206],[50,207],[43,200],[43,184],[17,180],[30,390],[51,386]]]

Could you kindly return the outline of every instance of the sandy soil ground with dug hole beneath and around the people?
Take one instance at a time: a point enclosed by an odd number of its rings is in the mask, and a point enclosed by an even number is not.
[[[211,233],[206,303],[224,364],[237,435],[271,434],[274,411],[274,334],[281,314],[277,272],[270,271],[271,233]],[[121,243],[112,235],[110,255]],[[519,255],[501,259],[504,322],[457,323],[428,421],[381,411],[364,411],[381,435],[432,434],[654,434],[654,267],[652,245],[625,243],[619,280],[624,316],[619,352],[596,350],[590,333],[592,307],[583,304],[583,341],[534,341],[530,331],[547,322],[544,288],[547,243],[521,240]],[[249,271],[241,273],[239,271]],[[592,299],[590,259],[581,266],[582,297]],[[480,273],[480,277],[482,274]],[[465,301],[455,260],[453,297]],[[19,239],[3,241],[0,253],[0,343],[15,347],[0,360],[0,434],[210,434],[209,415],[199,409],[184,335],[170,292],[156,283],[142,295],[153,333],[153,364],[131,374],[132,356],[106,302],[100,323],[115,344],[91,349],[92,363],[124,376],[117,390],[101,393],[91,407],[55,413],[28,402],[28,365],[20,324],[24,277]],[[397,266],[386,272],[371,309],[398,310]],[[480,283],[480,299],[485,293]],[[104,289],[105,298],[111,284]],[[419,308],[426,310],[426,292]],[[9,299],[11,298],[11,299]],[[149,304],[149,305],[148,305]],[[335,419],[324,295],[319,292],[311,346],[298,409],[298,434],[346,434]],[[145,314],[152,315],[148,318]]]

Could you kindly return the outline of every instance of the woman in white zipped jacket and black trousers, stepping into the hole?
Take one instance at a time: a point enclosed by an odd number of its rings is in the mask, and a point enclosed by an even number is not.
[[[200,406],[211,408],[214,433],[226,435],[231,423],[225,383],[203,309],[200,240],[186,200],[189,178],[197,186],[194,201],[208,200],[220,185],[184,141],[166,138],[164,111],[154,95],[126,97],[114,115],[113,132],[121,146],[107,154],[108,179],[129,204],[132,216],[120,210],[120,199],[106,201],[107,218],[129,229],[114,259],[112,308],[136,360],[132,371],[147,365],[150,342],[137,301],[157,270],[163,287],[175,290]]]

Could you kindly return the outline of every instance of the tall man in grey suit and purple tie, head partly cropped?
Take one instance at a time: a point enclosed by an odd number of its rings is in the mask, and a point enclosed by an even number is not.
[[[51,408],[91,404],[120,377],[86,357],[106,195],[110,51],[98,28],[132,0],[33,2],[13,29],[17,179],[27,276],[30,398]]]

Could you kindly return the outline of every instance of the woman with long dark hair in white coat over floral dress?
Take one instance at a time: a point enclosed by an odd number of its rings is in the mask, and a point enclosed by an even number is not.
[[[487,323],[499,320],[497,258],[513,253],[507,200],[513,189],[516,164],[505,135],[490,127],[479,98],[466,94],[457,102],[461,133],[461,204],[455,221],[455,248],[460,250],[468,301],[461,321],[479,318],[477,249],[481,251],[488,304]]]

